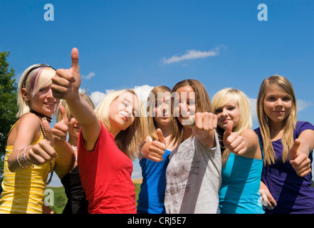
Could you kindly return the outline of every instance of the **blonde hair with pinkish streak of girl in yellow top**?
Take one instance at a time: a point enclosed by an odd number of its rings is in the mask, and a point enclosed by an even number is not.
[[[28,95],[34,96],[41,88],[51,85],[51,78],[55,74],[56,71],[51,66],[45,64],[35,64],[22,73],[17,94],[17,104],[19,106],[19,111],[16,113],[17,118],[28,113],[31,109],[30,103],[23,99],[22,88],[26,89]]]

